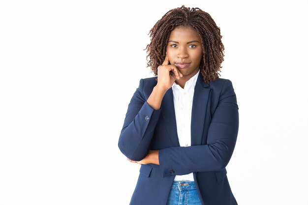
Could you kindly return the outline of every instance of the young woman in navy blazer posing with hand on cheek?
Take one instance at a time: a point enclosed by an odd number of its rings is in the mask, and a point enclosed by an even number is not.
[[[148,66],[128,105],[119,148],[141,164],[131,205],[237,205],[227,166],[239,117],[218,78],[220,29],[199,8],[168,11],[150,30]]]

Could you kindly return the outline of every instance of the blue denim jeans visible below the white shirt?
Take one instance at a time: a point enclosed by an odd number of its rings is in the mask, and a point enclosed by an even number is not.
[[[167,205],[202,205],[194,181],[174,181]]]

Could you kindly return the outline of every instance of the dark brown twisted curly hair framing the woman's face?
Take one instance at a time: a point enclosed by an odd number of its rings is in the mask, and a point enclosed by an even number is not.
[[[147,45],[148,67],[157,75],[157,67],[161,65],[166,56],[166,46],[170,33],[178,26],[195,29],[202,43],[203,57],[200,63],[200,72],[207,83],[220,76],[221,63],[224,57],[224,46],[221,42],[220,28],[205,11],[199,8],[185,7],[168,11],[156,22],[150,30],[150,44]]]

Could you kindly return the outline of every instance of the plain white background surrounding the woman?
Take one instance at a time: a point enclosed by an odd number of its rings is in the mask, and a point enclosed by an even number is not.
[[[139,165],[118,148],[168,10],[221,28],[240,128],[227,166],[239,205],[307,205],[304,0],[0,0],[0,205],[128,205]]]

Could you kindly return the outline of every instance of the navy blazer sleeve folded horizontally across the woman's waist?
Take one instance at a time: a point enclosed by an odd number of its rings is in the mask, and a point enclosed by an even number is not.
[[[233,153],[239,128],[236,95],[226,80],[208,131],[206,145],[168,147],[159,150],[162,176],[224,169]]]

